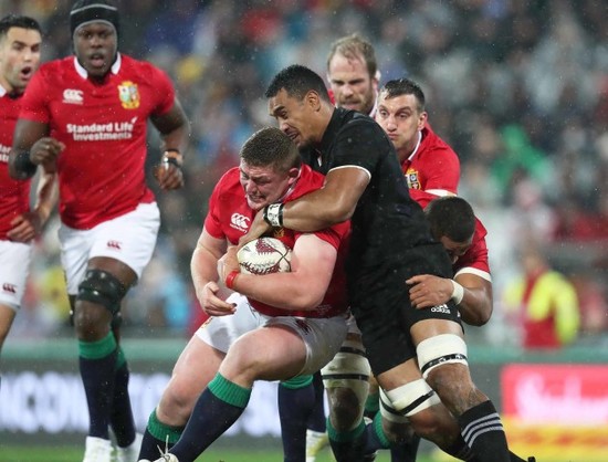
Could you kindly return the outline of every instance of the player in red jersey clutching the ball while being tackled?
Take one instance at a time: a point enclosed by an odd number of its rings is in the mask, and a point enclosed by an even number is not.
[[[312,374],[334,356],[347,329],[342,250],[348,223],[314,233],[275,228],[271,235],[293,249],[289,273],[242,274],[234,246],[220,258],[259,210],[295,200],[323,181],[273,127],[255,133],[241,149],[240,166],[217,183],[191,263],[197,296],[211,318],[180,355],[150,416],[140,460],[157,459],[157,447],[168,439],[170,453],[160,461],[193,461],[243,412],[255,380],[284,380],[297,395],[290,402],[300,406],[289,411],[298,418],[282,419],[283,444],[290,447],[284,460],[304,459]],[[237,292],[226,298],[218,279]]]

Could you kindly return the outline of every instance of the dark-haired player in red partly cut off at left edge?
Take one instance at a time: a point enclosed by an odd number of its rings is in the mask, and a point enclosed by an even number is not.
[[[25,86],[40,63],[41,30],[28,17],[0,19],[0,349],[25,291],[32,239],[40,234],[56,201],[55,175],[41,171],[36,203],[31,180],[9,176],[9,151]]]

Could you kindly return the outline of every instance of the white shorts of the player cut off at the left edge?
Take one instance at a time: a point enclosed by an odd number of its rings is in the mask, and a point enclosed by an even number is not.
[[[0,241],[0,305],[21,306],[31,260],[31,243]]]

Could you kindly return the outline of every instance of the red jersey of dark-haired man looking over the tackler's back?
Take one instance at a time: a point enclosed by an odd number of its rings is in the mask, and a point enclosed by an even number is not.
[[[410,189],[421,189],[438,196],[441,191],[458,192],[460,159],[454,150],[427,123],[415,151],[401,164]]]

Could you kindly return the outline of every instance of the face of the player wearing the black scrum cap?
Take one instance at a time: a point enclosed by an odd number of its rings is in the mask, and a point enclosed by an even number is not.
[[[116,60],[118,50],[116,30],[104,22],[83,25],[74,33],[74,50],[78,63],[90,76],[104,77]]]

